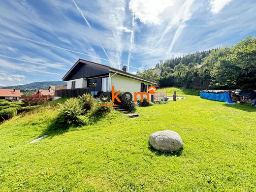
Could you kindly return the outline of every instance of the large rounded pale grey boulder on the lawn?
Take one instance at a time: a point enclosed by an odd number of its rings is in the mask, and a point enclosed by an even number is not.
[[[149,136],[150,145],[158,151],[179,151],[183,148],[181,136],[173,130],[162,130]]]

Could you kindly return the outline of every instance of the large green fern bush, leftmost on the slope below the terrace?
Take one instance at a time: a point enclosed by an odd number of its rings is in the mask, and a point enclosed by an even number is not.
[[[80,116],[85,113],[82,102],[79,98],[69,98],[63,104],[60,104],[60,114],[58,121],[60,123],[82,125]]]

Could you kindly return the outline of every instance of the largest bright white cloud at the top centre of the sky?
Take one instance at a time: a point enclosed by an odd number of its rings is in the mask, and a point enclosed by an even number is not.
[[[158,25],[163,11],[173,5],[173,0],[130,0],[129,8],[142,23]]]

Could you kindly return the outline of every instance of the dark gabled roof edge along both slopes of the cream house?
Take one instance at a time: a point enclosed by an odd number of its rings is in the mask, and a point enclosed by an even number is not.
[[[66,79],[66,77],[68,76],[68,74],[74,69],[74,67],[79,64],[79,63],[84,63],[84,64],[90,64],[90,65],[93,65],[93,66],[96,66],[96,67],[100,67],[100,68],[103,68],[103,69],[107,69],[109,71],[114,70],[114,71],[117,71],[118,73],[122,73],[123,75],[127,75],[127,76],[132,76],[134,78],[137,78],[137,79],[141,79],[141,80],[144,80],[144,81],[147,81],[147,82],[150,82],[150,83],[153,83],[153,84],[157,84],[157,82],[155,81],[151,81],[149,79],[146,79],[144,77],[141,77],[141,76],[138,76],[138,75],[134,75],[132,73],[128,73],[128,72],[125,72],[123,70],[120,70],[120,69],[117,69],[117,68],[114,68],[114,67],[110,67],[110,66],[107,66],[107,65],[104,65],[104,64],[98,64],[98,63],[95,63],[95,62],[90,62],[90,61],[87,61],[87,60],[84,60],[84,59],[78,59],[77,62],[67,71],[67,73],[64,75],[64,77],[62,78],[63,80]]]

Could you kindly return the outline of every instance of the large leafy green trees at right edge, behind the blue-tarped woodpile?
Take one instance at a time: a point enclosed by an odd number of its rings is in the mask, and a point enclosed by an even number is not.
[[[247,37],[220,57],[211,71],[212,85],[228,89],[256,88],[256,37]]]

